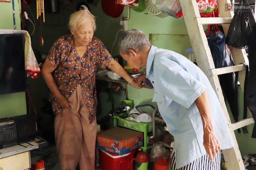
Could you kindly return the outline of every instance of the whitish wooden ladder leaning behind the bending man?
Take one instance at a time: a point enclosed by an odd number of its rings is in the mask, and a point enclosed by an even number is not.
[[[225,34],[228,32],[228,28],[234,12],[225,11],[226,5],[231,4],[230,0],[217,0],[218,10],[220,17],[215,18],[202,18],[200,17],[196,0],[180,0],[180,4],[183,11],[183,17],[189,34],[190,42],[194,51],[194,56],[197,60],[199,68],[206,74],[213,89],[215,90],[218,99],[220,100],[221,107],[225,114],[232,138],[235,146],[233,148],[222,150],[225,162],[228,170],[244,170],[244,163],[239,151],[237,140],[235,138],[234,130],[242,128],[246,125],[253,124],[254,119],[249,112],[250,118],[244,119],[239,122],[231,123],[228,114],[227,106],[223,97],[218,75],[239,71],[238,81],[242,92],[244,92],[244,78],[246,67],[240,65],[240,63],[249,63],[245,49],[237,49],[230,47],[232,57],[234,59],[235,66],[229,66],[224,68],[215,68],[211,51],[208,46],[208,41],[205,35],[203,25],[208,24],[222,24]]]

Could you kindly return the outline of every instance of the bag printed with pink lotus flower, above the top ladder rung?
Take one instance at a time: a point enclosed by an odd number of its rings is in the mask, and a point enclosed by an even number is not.
[[[201,17],[211,17],[212,12],[217,12],[217,1],[216,0],[196,0],[199,13]],[[215,16],[217,17],[218,14],[215,13]]]

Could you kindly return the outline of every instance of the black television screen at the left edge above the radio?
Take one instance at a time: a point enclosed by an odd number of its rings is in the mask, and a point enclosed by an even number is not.
[[[0,94],[27,90],[24,44],[22,33],[0,34]]]

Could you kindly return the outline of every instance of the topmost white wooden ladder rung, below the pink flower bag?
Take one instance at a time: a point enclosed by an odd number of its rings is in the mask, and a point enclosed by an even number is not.
[[[227,17],[227,18],[220,18],[220,17],[208,17],[208,18],[204,18],[204,17],[198,17],[195,18],[195,22],[197,20],[197,24],[202,24],[202,25],[206,25],[206,24],[230,24],[231,20],[233,18],[232,17]]]

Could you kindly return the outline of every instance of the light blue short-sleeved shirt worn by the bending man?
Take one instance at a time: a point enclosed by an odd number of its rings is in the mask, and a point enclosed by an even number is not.
[[[202,145],[202,119],[195,105],[195,99],[205,90],[221,148],[234,146],[218,97],[206,75],[194,63],[174,51],[151,46],[146,74],[154,86],[152,102],[157,102],[168,131],[175,139],[176,168],[206,155]]]

